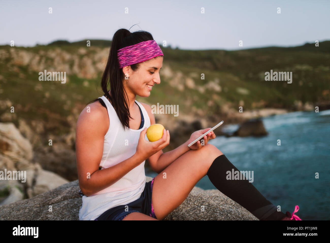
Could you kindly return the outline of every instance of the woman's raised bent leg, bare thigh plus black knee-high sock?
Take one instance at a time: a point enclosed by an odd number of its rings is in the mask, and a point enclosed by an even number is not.
[[[227,180],[226,172],[232,169],[237,171],[214,145],[206,144],[200,150],[189,150],[154,179],[152,204],[157,219],[165,218],[176,209],[205,175],[219,191],[258,219],[280,220],[285,216],[277,212],[276,207],[248,180]],[[163,178],[163,173],[166,173],[166,178]]]

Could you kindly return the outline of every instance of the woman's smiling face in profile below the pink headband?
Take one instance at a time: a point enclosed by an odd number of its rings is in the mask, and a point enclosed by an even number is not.
[[[127,94],[132,93],[141,97],[149,97],[152,90],[149,87],[160,83],[159,70],[162,66],[163,56],[157,56],[140,63],[140,68],[137,71],[133,71],[130,66],[124,67],[123,72],[129,77],[123,80]]]

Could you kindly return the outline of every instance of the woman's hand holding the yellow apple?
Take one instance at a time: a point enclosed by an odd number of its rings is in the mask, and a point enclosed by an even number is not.
[[[170,132],[168,130],[164,129],[163,136],[154,142],[145,139],[146,133],[147,127],[141,131],[138,146],[136,147],[136,154],[140,157],[141,161],[148,159],[170,144]]]

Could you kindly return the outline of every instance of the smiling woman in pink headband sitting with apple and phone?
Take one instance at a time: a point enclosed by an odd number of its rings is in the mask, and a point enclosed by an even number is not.
[[[146,132],[155,118],[150,106],[135,98],[148,97],[160,83],[162,63],[163,52],[149,32],[119,29],[114,34],[102,76],[104,95],[89,102],[77,121],[80,220],[162,220],[205,175],[260,220],[299,219],[278,212],[247,180],[226,179],[226,171],[238,169],[208,144],[215,138],[213,132],[204,137],[203,145],[198,141],[187,146],[210,128],[195,131],[167,153],[162,149],[170,142],[168,130],[158,141],[149,142]],[[159,173],[150,182],[146,182],[146,159]]]

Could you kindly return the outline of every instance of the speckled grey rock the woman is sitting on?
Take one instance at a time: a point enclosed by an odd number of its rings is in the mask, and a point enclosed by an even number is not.
[[[152,180],[147,177],[147,181]],[[82,197],[78,180],[33,198],[0,206],[0,220],[79,220]],[[204,206],[205,211],[201,208]],[[164,220],[258,220],[217,190],[194,187]]]

